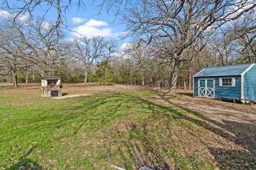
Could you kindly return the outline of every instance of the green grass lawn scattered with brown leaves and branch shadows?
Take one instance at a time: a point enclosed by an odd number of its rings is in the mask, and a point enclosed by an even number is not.
[[[221,130],[198,113],[159,104],[154,95],[121,91],[56,100],[40,97],[39,88],[0,87],[0,169],[225,169],[213,154],[231,146]]]

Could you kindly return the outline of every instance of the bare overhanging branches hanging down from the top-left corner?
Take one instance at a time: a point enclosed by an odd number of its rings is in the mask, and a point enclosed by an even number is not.
[[[55,11],[57,18],[54,23],[49,25],[49,30],[47,33],[52,31],[59,31],[60,28],[67,28],[68,24],[66,21],[66,12],[69,8],[74,5],[83,10],[86,8],[83,0],[73,0],[73,1],[62,1],[62,0],[16,0],[16,3],[10,3],[7,0],[2,1],[1,8],[4,11],[9,12],[12,15],[12,22],[16,24],[23,15],[27,15],[28,20],[30,22],[35,21],[34,12],[40,10],[42,13],[42,17],[44,18],[49,11],[51,13]],[[47,34],[44,35],[48,36]],[[45,38],[43,37],[43,38]]]

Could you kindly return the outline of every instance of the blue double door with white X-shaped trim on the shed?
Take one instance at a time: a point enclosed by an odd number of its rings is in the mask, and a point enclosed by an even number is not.
[[[214,79],[198,79],[198,96],[199,97],[215,97],[215,80]]]

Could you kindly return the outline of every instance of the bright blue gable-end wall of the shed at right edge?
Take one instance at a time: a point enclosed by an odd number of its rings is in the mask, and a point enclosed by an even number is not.
[[[256,100],[256,66],[244,74],[244,99]]]

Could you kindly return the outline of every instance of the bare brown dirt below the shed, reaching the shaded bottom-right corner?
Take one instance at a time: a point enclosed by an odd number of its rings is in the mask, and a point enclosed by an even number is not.
[[[214,133],[233,143],[226,147],[210,145],[209,150],[220,166],[231,169],[256,168],[255,108],[214,99],[194,98],[186,91],[178,91],[172,97],[158,93],[155,99],[161,104],[173,105],[194,113],[195,116],[192,117],[204,120],[207,125],[219,129]],[[243,152],[250,156],[245,156]]]

